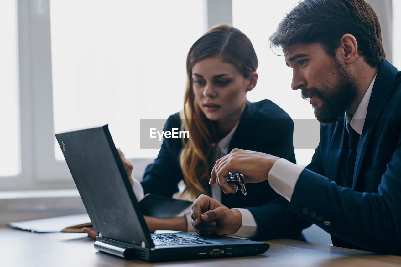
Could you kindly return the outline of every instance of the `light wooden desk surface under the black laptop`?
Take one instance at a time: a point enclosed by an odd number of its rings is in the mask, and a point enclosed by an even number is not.
[[[398,256],[289,239],[267,241],[270,249],[254,257],[146,263],[101,253],[82,233],[31,233],[6,227],[0,228],[0,237],[2,266],[401,266]]]

